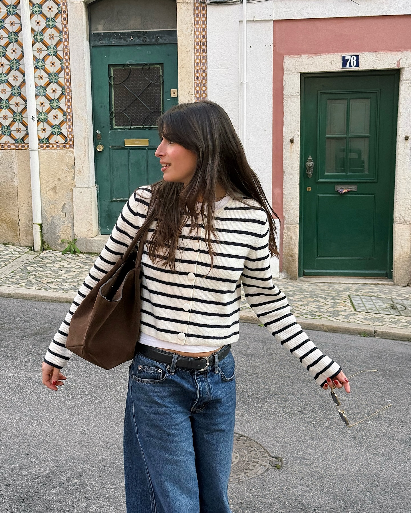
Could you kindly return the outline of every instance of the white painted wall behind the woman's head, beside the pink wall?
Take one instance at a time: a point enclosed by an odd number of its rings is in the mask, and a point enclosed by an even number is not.
[[[268,3],[270,4],[270,3]],[[251,4],[250,4],[251,5]],[[208,97],[228,112],[239,131],[242,73],[242,22],[238,6],[209,6],[207,11]],[[247,26],[247,143],[251,167],[272,201],[273,24],[253,19]],[[272,261],[278,276],[278,260]]]

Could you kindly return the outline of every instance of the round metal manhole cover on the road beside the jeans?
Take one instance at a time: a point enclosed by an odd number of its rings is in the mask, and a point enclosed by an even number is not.
[[[233,459],[230,483],[240,483],[261,476],[269,468],[281,469],[283,459],[271,456],[268,450],[255,440],[234,433]]]

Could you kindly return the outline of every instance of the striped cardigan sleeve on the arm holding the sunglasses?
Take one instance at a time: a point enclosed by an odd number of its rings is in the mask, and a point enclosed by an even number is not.
[[[268,251],[269,225],[267,216],[263,230],[250,250],[241,275],[248,304],[258,319],[283,347],[300,360],[315,382],[322,386],[334,378],[341,367],[325,356],[297,324],[286,295],[273,284]]]

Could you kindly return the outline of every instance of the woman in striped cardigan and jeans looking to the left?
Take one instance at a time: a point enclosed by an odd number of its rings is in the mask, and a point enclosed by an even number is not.
[[[128,513],[228,513],[241,283],[274,337],[317,384],[349,384],[310,341],[272,283],[272,210],[227,113],[180,104],[159,119],[163,180],[138,188],[55,335],[43,383],[63,384],[74,311],[150,226],[142,258],[141,323],[124,421]],[[328,383],[328,384],[327,384]]]

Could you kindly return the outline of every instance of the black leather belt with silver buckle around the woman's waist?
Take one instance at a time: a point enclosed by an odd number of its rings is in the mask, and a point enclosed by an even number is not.
[[[219,351],[216,351],[216,353],[213,353],[210,356],[202,356],[199,358],[178,355],[176,367],[181,367],[183,369],[207,370],[209,367],[212,367],[215,364],[214,354],[217,354],[218,361],[221,362],[221,360],[226,358],[227,354],[230,352],[230,349],[231,344],[228,344],[224,347],[221,347]],[[156,362],[166,363],[167,365],[172,364],[173,354],[175,354],[169,351],[163,351],[157,347],[140,344],[140,342],[137,342],[136,352],[147,358],[150,358],[150,360],[156,360]]]

